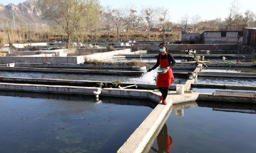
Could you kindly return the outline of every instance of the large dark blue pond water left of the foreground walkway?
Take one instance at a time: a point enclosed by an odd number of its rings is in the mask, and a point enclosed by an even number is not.
[[[116,152],[156,105],[134,99],[0,95],[3,153]]]

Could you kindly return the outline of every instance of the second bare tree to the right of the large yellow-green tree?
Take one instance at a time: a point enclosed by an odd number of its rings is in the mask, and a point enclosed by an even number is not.
[[[122,8],[118,8],[118,9],[113,9],[112,10],[112,20],[114,25],[116,26],[116,40],[118,42],[118,37],[119,37],[119,28],[120,26],[124,23],[124,11]]]

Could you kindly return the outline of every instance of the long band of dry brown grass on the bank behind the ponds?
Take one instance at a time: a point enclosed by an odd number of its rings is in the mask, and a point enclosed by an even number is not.
[[[7,30],[2,30],[5,38],[7,38]],[[177,32],[151,32],[150,40],[151,41],[171,41],[177,40]],[[10,29],[9,30],[10,40],[11,42],[55,42],[62,41],[65,42],[67,40],[66,34],[61,31],[37,31],[29,30],[29,29]],[[126,42],[126,32],[120,32],[119,36],[122,38],[122,42]],[[180,38],[179,38],[180,39]],[[5,39],[7,40],[7,39]],[[139,31],[139,30],[129,30],[128,31],[128,40],[135,41],[148,41],[148,32],[147,31]],[[74,42],[109,42],[108,41],[108,31],[99,30],[95,33],[88,33],[88,31],[84,31],[81,33],[76,33],[72,41]],[[116,32],[110,32],[110,42],[116,42]]]

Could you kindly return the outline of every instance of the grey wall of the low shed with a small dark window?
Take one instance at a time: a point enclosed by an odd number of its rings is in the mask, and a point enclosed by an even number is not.
[[[238,31],[236,32],[226,32],[226,37],[221,37],[221,31],[217,32],[204,32],[203,35],[203,42],[204,44],[236,44],[238,40]],[[243,41],[243,37],[240,37],[239,42]]]

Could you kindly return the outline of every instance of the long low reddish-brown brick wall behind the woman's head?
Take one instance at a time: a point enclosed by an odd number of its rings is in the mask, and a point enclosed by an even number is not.
[[[167,45],[170,51],[172,50],[234,50],[237,47],[237,44],[188,44],[188,45]],[[159,45],[132,45],[132,51],[137,50],[148,50],[148,51],[157,51],[159,49]]]

